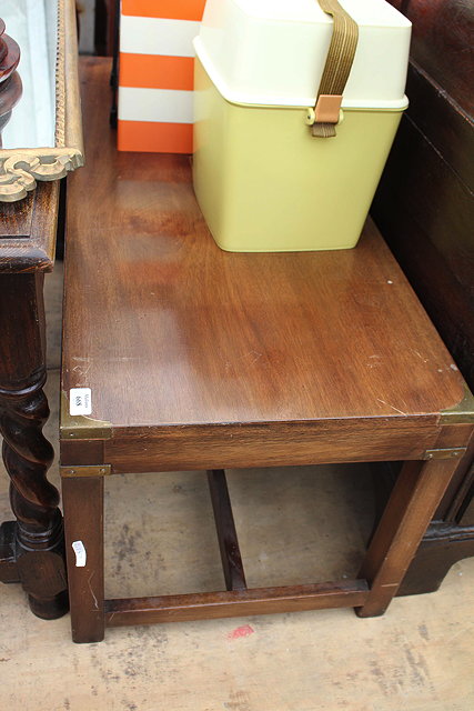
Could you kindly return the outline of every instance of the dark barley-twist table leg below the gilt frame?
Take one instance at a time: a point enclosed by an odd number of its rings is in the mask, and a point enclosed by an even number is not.
[[[31,610],[56,619],[68,611],[62,515],[48,481],[53,449],[49,417],[43,274],[0,276],[0,432],[17,518],[0,529],[0,581],[21,582]]]

